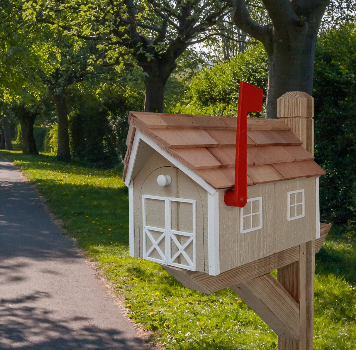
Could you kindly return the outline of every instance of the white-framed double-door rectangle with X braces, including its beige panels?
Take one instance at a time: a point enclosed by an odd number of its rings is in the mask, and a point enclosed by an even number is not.
[[[196,213],[195,199],[143,195],[143,258],[195,271]]]

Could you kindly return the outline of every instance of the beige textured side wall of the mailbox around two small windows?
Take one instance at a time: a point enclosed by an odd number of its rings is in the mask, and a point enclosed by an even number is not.
[[[288,221],[287,193],[304,189],[305,216]],[[248,198],[262,197],[263,227],[240,233],[240,208],[219,196],[220,273],[315,238],[315,178],[248,186]]]

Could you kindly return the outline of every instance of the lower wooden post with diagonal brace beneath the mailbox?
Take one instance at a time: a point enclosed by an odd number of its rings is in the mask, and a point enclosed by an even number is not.
[[[315,241],[299,245],[299,260],[231,288],[278,335],[279,350],[313,350]]]

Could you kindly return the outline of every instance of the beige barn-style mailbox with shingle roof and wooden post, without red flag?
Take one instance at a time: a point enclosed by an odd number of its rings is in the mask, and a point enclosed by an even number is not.
[[[312,349],[314,254],[330,229],[319,223],[325,172],[314,162],[313,116],[311,96],[287,93],[279,119],[248,118],[248,200],[238,208],[224,203],[235,181],[236,118],[129,115],[130,255],[197,291],[231,286],[279,335],[280,349]]]

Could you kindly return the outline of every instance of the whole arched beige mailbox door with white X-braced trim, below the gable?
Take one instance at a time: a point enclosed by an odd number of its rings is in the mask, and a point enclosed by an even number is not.
[[[159,186],[161,174],[169,175],[171,184]],[[202,204],[193,181],[176,168],[162,167],[146,178],[140,197],[143,258],[197,270],[197,234],[203,234],[197,228],[197,207],[202,215]]]

